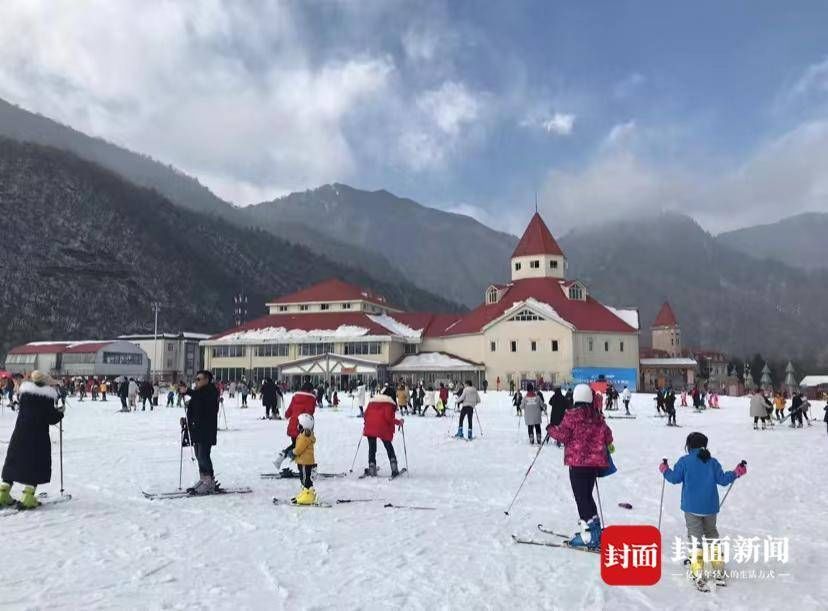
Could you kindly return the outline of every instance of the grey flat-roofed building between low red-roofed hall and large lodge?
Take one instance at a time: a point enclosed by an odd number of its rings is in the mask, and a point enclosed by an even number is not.
[[[164,382],[190,381],[201,369],[199,342],[209,339],[204,333],[152,333],[121,335],[118,339],[141,348],[149,358],[150,375]],[[155,362],[155,359],[158,362]]]

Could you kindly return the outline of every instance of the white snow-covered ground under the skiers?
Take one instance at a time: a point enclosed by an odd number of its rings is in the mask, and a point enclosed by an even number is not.
[[[679,408],[683,428],[668,428],[648,395],[635,395],[636,420],[611,420],[619,472],[601,480],[609,524],[655,524],[662,456],[673,464],[693,430],[710,437],[726,469],[744,458],[740,479],[719,518],[722,535],[790,537],[789,573],[738,581],[726,590],[696,592],[666,547],[664,573],[653,587],[603,584],[599,558],[570,550],[514,544],[510,535],[542,537],[539,522],[569,532],[577,520],[562,451],[546,446],[518,499],[504,515],[536,448],[529,446],[506,393],[482,395],[484,436],[449,438],[456,419],[408,417],[409,476],[317,481],[320,497],[374,499],[332,509],[274,507],[295,480],[260,480],[286,445],[284,421],[263,421],[258,401],[228,409],[230,430],[219,433],[214,462],[226,485],[254,492],[149,501],[141,489],[178,485],[180,409],[116,413],[115,401],[72,401],[64,425],[69,503],[0,518],[2,608],[268,608],[268,609],[506,609],[545,608],[825,608],[828,473],[822,402],[815,425],[754,432],[747,399],[722,397],[721,410]],[[232,404],[233,401],[228,401]],[[323,471],[347,471],[361,433],[350,399],[317,417],[317,461]],[[0,415],[0,457],[14,425]],[[479,433],[480,431],[476,431]],[[57,430],[53,430],[58,494]],[[394,441],[401,462],[402,437]],[[367,462],[360,449],[357,467]],[[379,464],[387,474],[383,450]],[[185,481],[194,479],[185,461]],[[17,489],[19,493],[19,489]],[[724,492],[724,489],[722,489]],[[684,533],[680,486],[668,484],[665,541]],[[383,502],[433,506],[435,511],[386,509]],[[632,503],[633,509],[618,507]],[[740,566],[738,568],[743,568]],[[753,568],[761,569],[762,566]]]

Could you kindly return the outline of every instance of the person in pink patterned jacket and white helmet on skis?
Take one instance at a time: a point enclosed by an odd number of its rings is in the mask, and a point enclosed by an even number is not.
[[[601,519],[592,498],[595,480],[609,466],[608,453],[614,451],[612,431],[593,402],[592,389],[578,384],[572,393],[573,407],[558,426],[546,432],[564,445],[564,464],[569,467],[569,482],[578,506],[579,531],[570,539],[575,547],[597,549],[601,545]]]

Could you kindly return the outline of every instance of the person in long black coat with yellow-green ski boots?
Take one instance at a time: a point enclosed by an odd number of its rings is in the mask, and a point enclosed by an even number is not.
[[[17,503],[11,496],[14,482],[24,485],[23,498],[18,504],[24,509],[34,509],[40,503],[35,497],[38,484],[52,479],[52,442],[49,425],[63,418],[63,411],[55,407],[57,391],[51,388],[56,382],[48,375],[33,371],[31,381],[20,385],[20,412],[9,441],[6,461],[3,464],[0,484],[0,506]]]

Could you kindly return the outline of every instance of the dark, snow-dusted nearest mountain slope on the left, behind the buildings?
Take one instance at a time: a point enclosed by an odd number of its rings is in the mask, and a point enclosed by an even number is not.
[[[232,324],[275,295],[329,277],[372,288],[401,308],[456,310],[410,284],[387,283],[264,231],[174,206],[75,155],[0,138],[0,355],[36,339]]]

